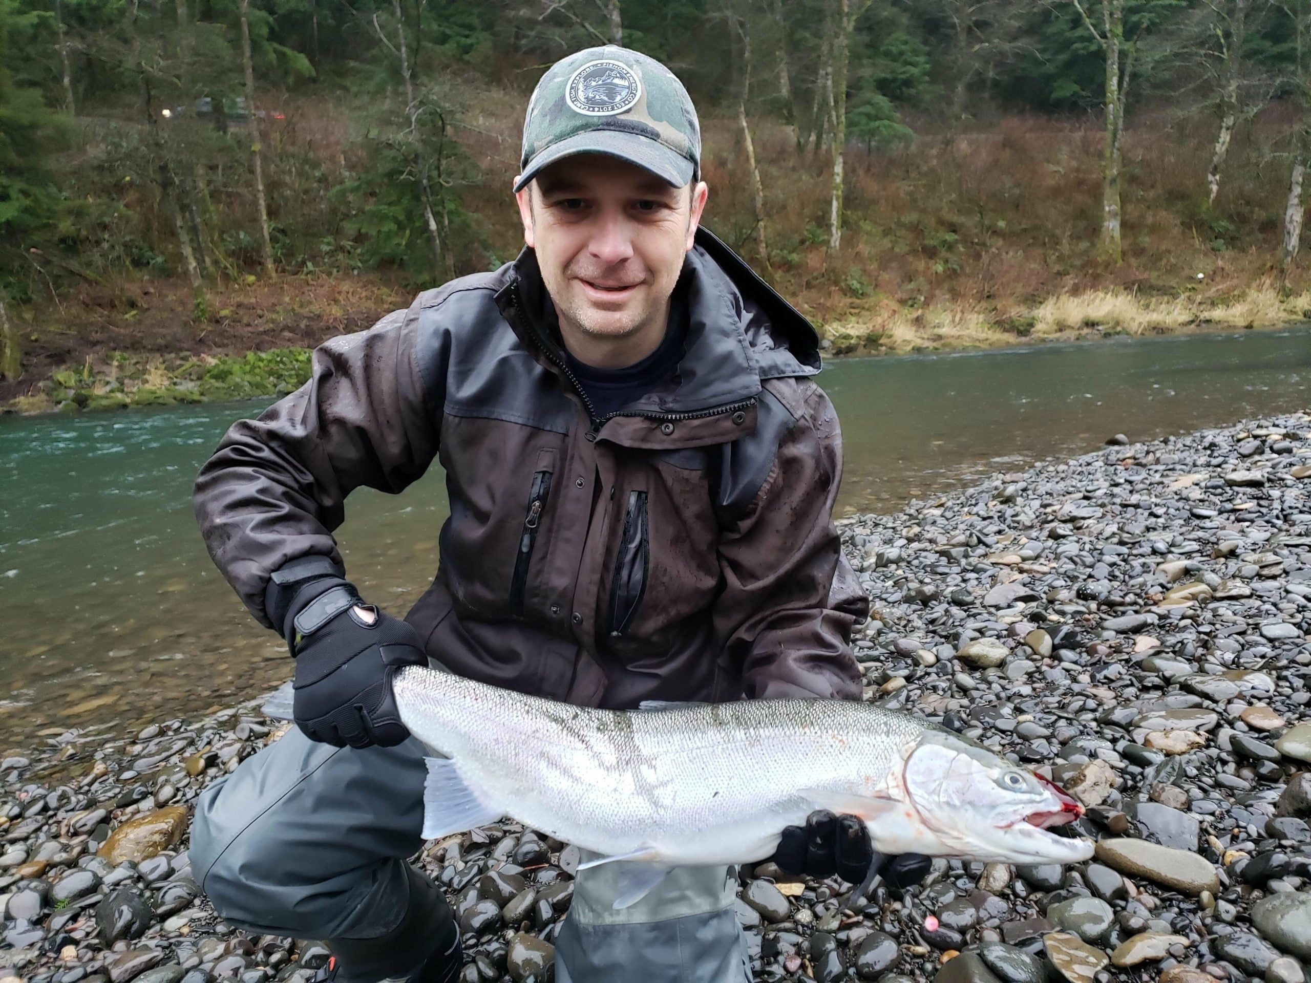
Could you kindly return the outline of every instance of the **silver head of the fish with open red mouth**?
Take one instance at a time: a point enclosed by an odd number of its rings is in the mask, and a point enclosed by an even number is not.
[[[886,793],[912,830],[914,852],[1000,864],[1072,864],[1092,856],[1087,840],[1049,832],[1083,815],[1068,793],[956,734],[916,738],[889,775]],[[877,826],[877,819],[869,824],[876,845]]]

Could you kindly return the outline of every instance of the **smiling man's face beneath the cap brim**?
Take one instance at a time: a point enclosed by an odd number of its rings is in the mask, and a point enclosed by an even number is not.
[[[705,208],[704,182],[670,187],[616,157],[579,153],[519,191],[523,239],[561,321],[599,339],[658,325]]]

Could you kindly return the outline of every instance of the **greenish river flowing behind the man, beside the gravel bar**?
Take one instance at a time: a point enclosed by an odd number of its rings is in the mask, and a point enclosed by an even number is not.
[[[890,511],[996,471],[1311,406],[1311,329],[851,359],[821,383],[843,423],[839,512]],[[290,675],[210,564],[191,481],[262,404],[0,421],[0,746],[231,705]],[[427,586],[439,469],[358,492],[351,579],[396,613]]]

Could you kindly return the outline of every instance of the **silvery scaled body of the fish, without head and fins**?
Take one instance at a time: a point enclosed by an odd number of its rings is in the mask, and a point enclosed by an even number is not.
[[[490,811],[600,853],[650,847],[684,864],[759,858],[814,807],[802,790],[877,784],[926,729],[835,700],[598,710],[426,668],[395,691],[405,725]]]

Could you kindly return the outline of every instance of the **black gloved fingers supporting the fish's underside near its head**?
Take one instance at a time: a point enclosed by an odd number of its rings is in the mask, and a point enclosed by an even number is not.
[[[860,818],[834,815],[827,809],[808,815],[805,826],[785,826],[773,862],[793,874],[838,874],[848,883],[861,883],[876,872],[897,890],[919,883],[933,865],[929,857],[919,853],[888,856],[877,852]]]

